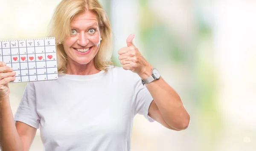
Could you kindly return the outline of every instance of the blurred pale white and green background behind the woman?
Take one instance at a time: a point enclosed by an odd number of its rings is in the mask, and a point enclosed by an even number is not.
[[[0,40],[46,36],[60,0],[0,0]],[[131,151],[256,150],[256,0],[100,0],[113,61],[126,37],[180,94],[189,128],[134,118]],[[254,17],[253,17],[254,16]],[[12,83],[15,113],[26,83]],[[39,130],[38,130],[39,131]],[[43,151],[39,132],[30,151]]]

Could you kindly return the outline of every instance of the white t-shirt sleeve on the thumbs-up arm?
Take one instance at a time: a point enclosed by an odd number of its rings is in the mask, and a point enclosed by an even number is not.
[[[141,114],[149,122],[154,122],[154,120],[148,116],[148,109],[153,101],[153,97],[149,93],[145,85],[142,84],[141,78],[136,74],[135,76],[135,115]]]

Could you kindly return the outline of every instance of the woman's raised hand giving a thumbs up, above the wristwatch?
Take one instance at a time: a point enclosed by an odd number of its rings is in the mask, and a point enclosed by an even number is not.
[[[120,63],[125,70],[131,70],[132,72],[139,74],[142,79],[147,78],[151,74],[152,66],[140,54],[138,48],[134,46],[132,42],[134,36],[134,34],[130,34],[128,36],[126,39],[127,47],[119,49],[118,59],[120,60]]]

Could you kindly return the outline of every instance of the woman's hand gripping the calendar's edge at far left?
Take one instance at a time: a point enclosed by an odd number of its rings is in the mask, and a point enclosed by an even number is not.
[[[15,80],[15,74],[16,72],[11,67],[0,61],[0,100],[9,97],[8,83]]]

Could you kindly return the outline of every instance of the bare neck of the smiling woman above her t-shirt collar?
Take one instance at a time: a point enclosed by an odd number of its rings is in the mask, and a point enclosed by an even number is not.
[[[91,60],[87,64],[79,64],[74,60],[68,60],[67,61],[67,70],[65,74],[75,74],[75,75],[90,75],[90,74],[96,74],[100,70],[98,70],[93,63],[93,60]]]

